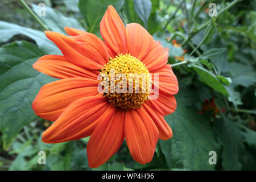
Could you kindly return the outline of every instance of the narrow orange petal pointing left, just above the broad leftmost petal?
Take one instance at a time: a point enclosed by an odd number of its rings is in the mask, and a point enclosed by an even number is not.
[[[55,78],[87,77],[97,79],[96,71],[89,71],[69,63],[64,56],[46,55],[40,57],[33,68]],[[97,71],[98,72],[98,71]]]

